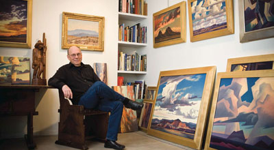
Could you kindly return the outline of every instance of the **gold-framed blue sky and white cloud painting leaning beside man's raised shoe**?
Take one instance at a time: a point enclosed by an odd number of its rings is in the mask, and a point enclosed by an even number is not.
[[[216,67],[160,72],[148,134],[201,149]]]

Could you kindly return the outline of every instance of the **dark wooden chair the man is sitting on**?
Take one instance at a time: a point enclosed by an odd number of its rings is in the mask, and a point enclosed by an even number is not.
[[[105,140],[108,131],[108,112],[85,109],[84,106],[72,105],[64,99],[64,93],[59,90],[60,122],[58,125],[58,140],[55,144],[88,149],[87,138]]]

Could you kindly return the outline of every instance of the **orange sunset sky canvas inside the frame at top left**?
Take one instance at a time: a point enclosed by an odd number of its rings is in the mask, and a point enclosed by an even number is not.
[[[0,8],[0,42],[27,43],[27,1],[5,1]]]

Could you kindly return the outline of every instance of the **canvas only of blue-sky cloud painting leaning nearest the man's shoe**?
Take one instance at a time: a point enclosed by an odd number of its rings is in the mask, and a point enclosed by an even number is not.
[[[151,129],[194,139],[206,74],[162,76]]]

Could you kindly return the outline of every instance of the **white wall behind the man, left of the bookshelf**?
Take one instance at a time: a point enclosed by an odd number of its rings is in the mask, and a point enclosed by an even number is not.
[[[90,65],[95,62],[107,63],[108,85],[116,85],[118,2],[110,0],[33,0],[32,48],[1,47],[0,55],[30,57],[32,59],[34,44],[38,40],[42,40],[42,33],[46,33],[48,48],[46,78],[49,80],[61,65],[69,63],[66,58],[66,50],[61,48],[62,12],[104,16],[105,49],[103,52],[83,50],[83,62]],[[34,134],[58,134],[58,90],[42,91],[36,97],[38,99],[36,100],[36,110],[39,115],[34,117]],[[23,136],[23,133],[26,133],[26,119],[27,117],[0,118],[0,138]]]

